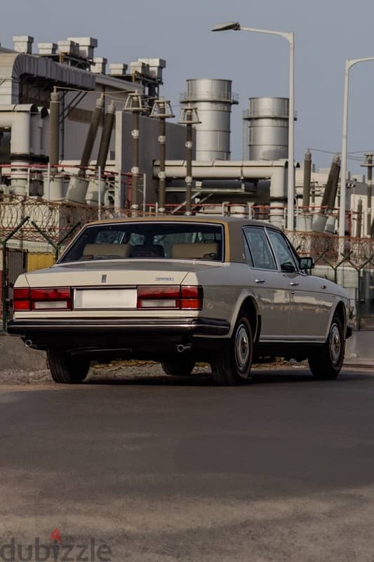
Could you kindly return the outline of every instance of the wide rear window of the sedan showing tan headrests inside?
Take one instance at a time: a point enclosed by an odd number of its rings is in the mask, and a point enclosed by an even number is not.
[[[203,259],[223,261],[221,225],[118,223],[86,227],[59,263],[100,259]]]

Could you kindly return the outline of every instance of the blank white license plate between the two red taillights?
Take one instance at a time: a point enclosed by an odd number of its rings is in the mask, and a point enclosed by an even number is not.
[[[136,308],[136,289],[75,289],[74,308]]]

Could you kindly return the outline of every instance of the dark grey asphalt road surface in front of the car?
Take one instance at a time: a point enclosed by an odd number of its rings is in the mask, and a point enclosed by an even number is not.
[[[257,374],[1,386],[0,560],[373,562],[374,370]]]

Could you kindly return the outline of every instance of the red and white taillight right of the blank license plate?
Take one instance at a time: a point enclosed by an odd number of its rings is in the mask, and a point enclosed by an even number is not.
[[[203,287],[142,285],[138,287],[138,308],[199,310],[203,308]]]

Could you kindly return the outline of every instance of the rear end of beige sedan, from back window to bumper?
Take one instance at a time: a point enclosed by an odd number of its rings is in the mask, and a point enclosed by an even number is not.
[[[222,267],[223,244],[222,226],[203,222],[87,226],[59,263],[18,278],[8,332],[91,359],[163,358],[199,348],[201,336],[206,347],[229,332],[204,310],[199,282]]]

